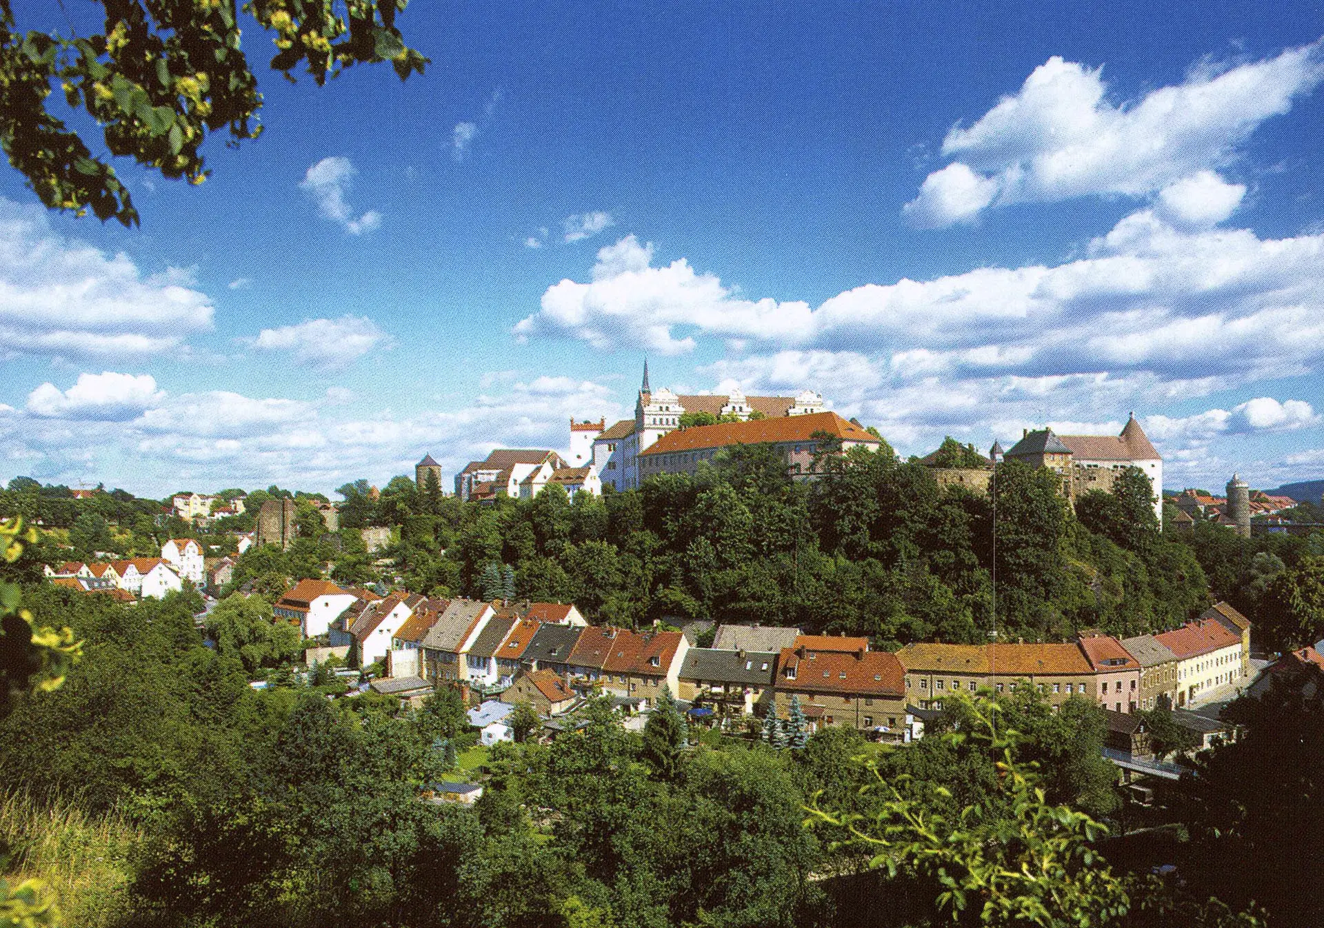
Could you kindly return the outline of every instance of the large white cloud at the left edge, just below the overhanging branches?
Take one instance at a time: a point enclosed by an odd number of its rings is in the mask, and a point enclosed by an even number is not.
[[[0,360],[173,352],[212,316],[189,271],[144,275],[127,254],[58,236],[42,209],[0,197]]]

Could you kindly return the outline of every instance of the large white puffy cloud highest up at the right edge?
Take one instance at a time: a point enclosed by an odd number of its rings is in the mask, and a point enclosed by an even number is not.
[[[1245,189],[1235,192],[1239,185],[1213,172],[1235,159],[1263,120],[1286,114],[1320,79],[1316,42],[1221,71],[1200,68],[1180,85],[1112,103],[1102,69],[1053,57],[973,126],[952,127],[943,155],[956,160],[931,173],[904,212],[918,225],[940,226],[1013,203],[1169,189],[1169,210],[1217,222]],[[1197,187],[1173,188],[1184,180]],[[1200,185],[1213,193],[1211,204],[1197,203]]]

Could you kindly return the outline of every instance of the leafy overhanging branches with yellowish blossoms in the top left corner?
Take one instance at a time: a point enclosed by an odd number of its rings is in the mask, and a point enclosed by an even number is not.
[[[102,5],[103,33],[65,37],[21,32],[11,0],[0,0],[0,146],[48,208],[127,226],[138,222],[128,189],[48,107],[53,85],[101,127],[113,155],[192,184],[208,176],[208,134],[225,132],[229,144],[261,134],[262,95],[233,1]],[[395,26],[404,0],[336,7],[250,0],[244,12],[275,33],[271,68],[286,77],[301,64],[318,85],[356,62],[391,61],[401,79],[422,71],[426,58]]]

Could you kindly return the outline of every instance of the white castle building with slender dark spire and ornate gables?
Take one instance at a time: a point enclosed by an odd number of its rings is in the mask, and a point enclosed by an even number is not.
[[[634,404],[634,418],[624,418],[609,429],[605,420],[571,422],[571,462],[592,463],[602,485],[616,490],[639,486],[638,455],[658,438],[681,428],[685,413],[707,412],[714,416],[736,416],[741,421],[757,413],[768,418],[804,416],[824,412],[824,398],[813,391],[796,396],[745,396],[740,389],[730,393],[679,396],[666,387],[649,387],[649,364],[643,363],[643,383]]]

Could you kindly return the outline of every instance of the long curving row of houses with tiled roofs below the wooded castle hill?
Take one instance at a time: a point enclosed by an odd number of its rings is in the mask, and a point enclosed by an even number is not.
[[[316,589],[314,589],[316,588]],[[339,598],[336,598],[339,597]],[[319,610],[319,604],[326,602]],[[343,604],[343,606],[340,605]],[[277,606],[332,646],[383,661],[388,675],[426,690],[528,699],[544,714],[591,691],[653,706],[663,688],[720,718],[784,715],[796,695],[813,725],[900,737],[914,710],[957,691],[1030,686],[1054,706],[1071,696],[1115,712],[1186,706],[1249,671],[1250,622],[1227,604],[1157,635],[1067,643],[914,643],[873,651],[867,638],[805,635],[777,626],[722,626],[711,647],[682,631],[589,626],[568,604],[429,600],[395,593],[368,601],[327,581],[302,581]]]

